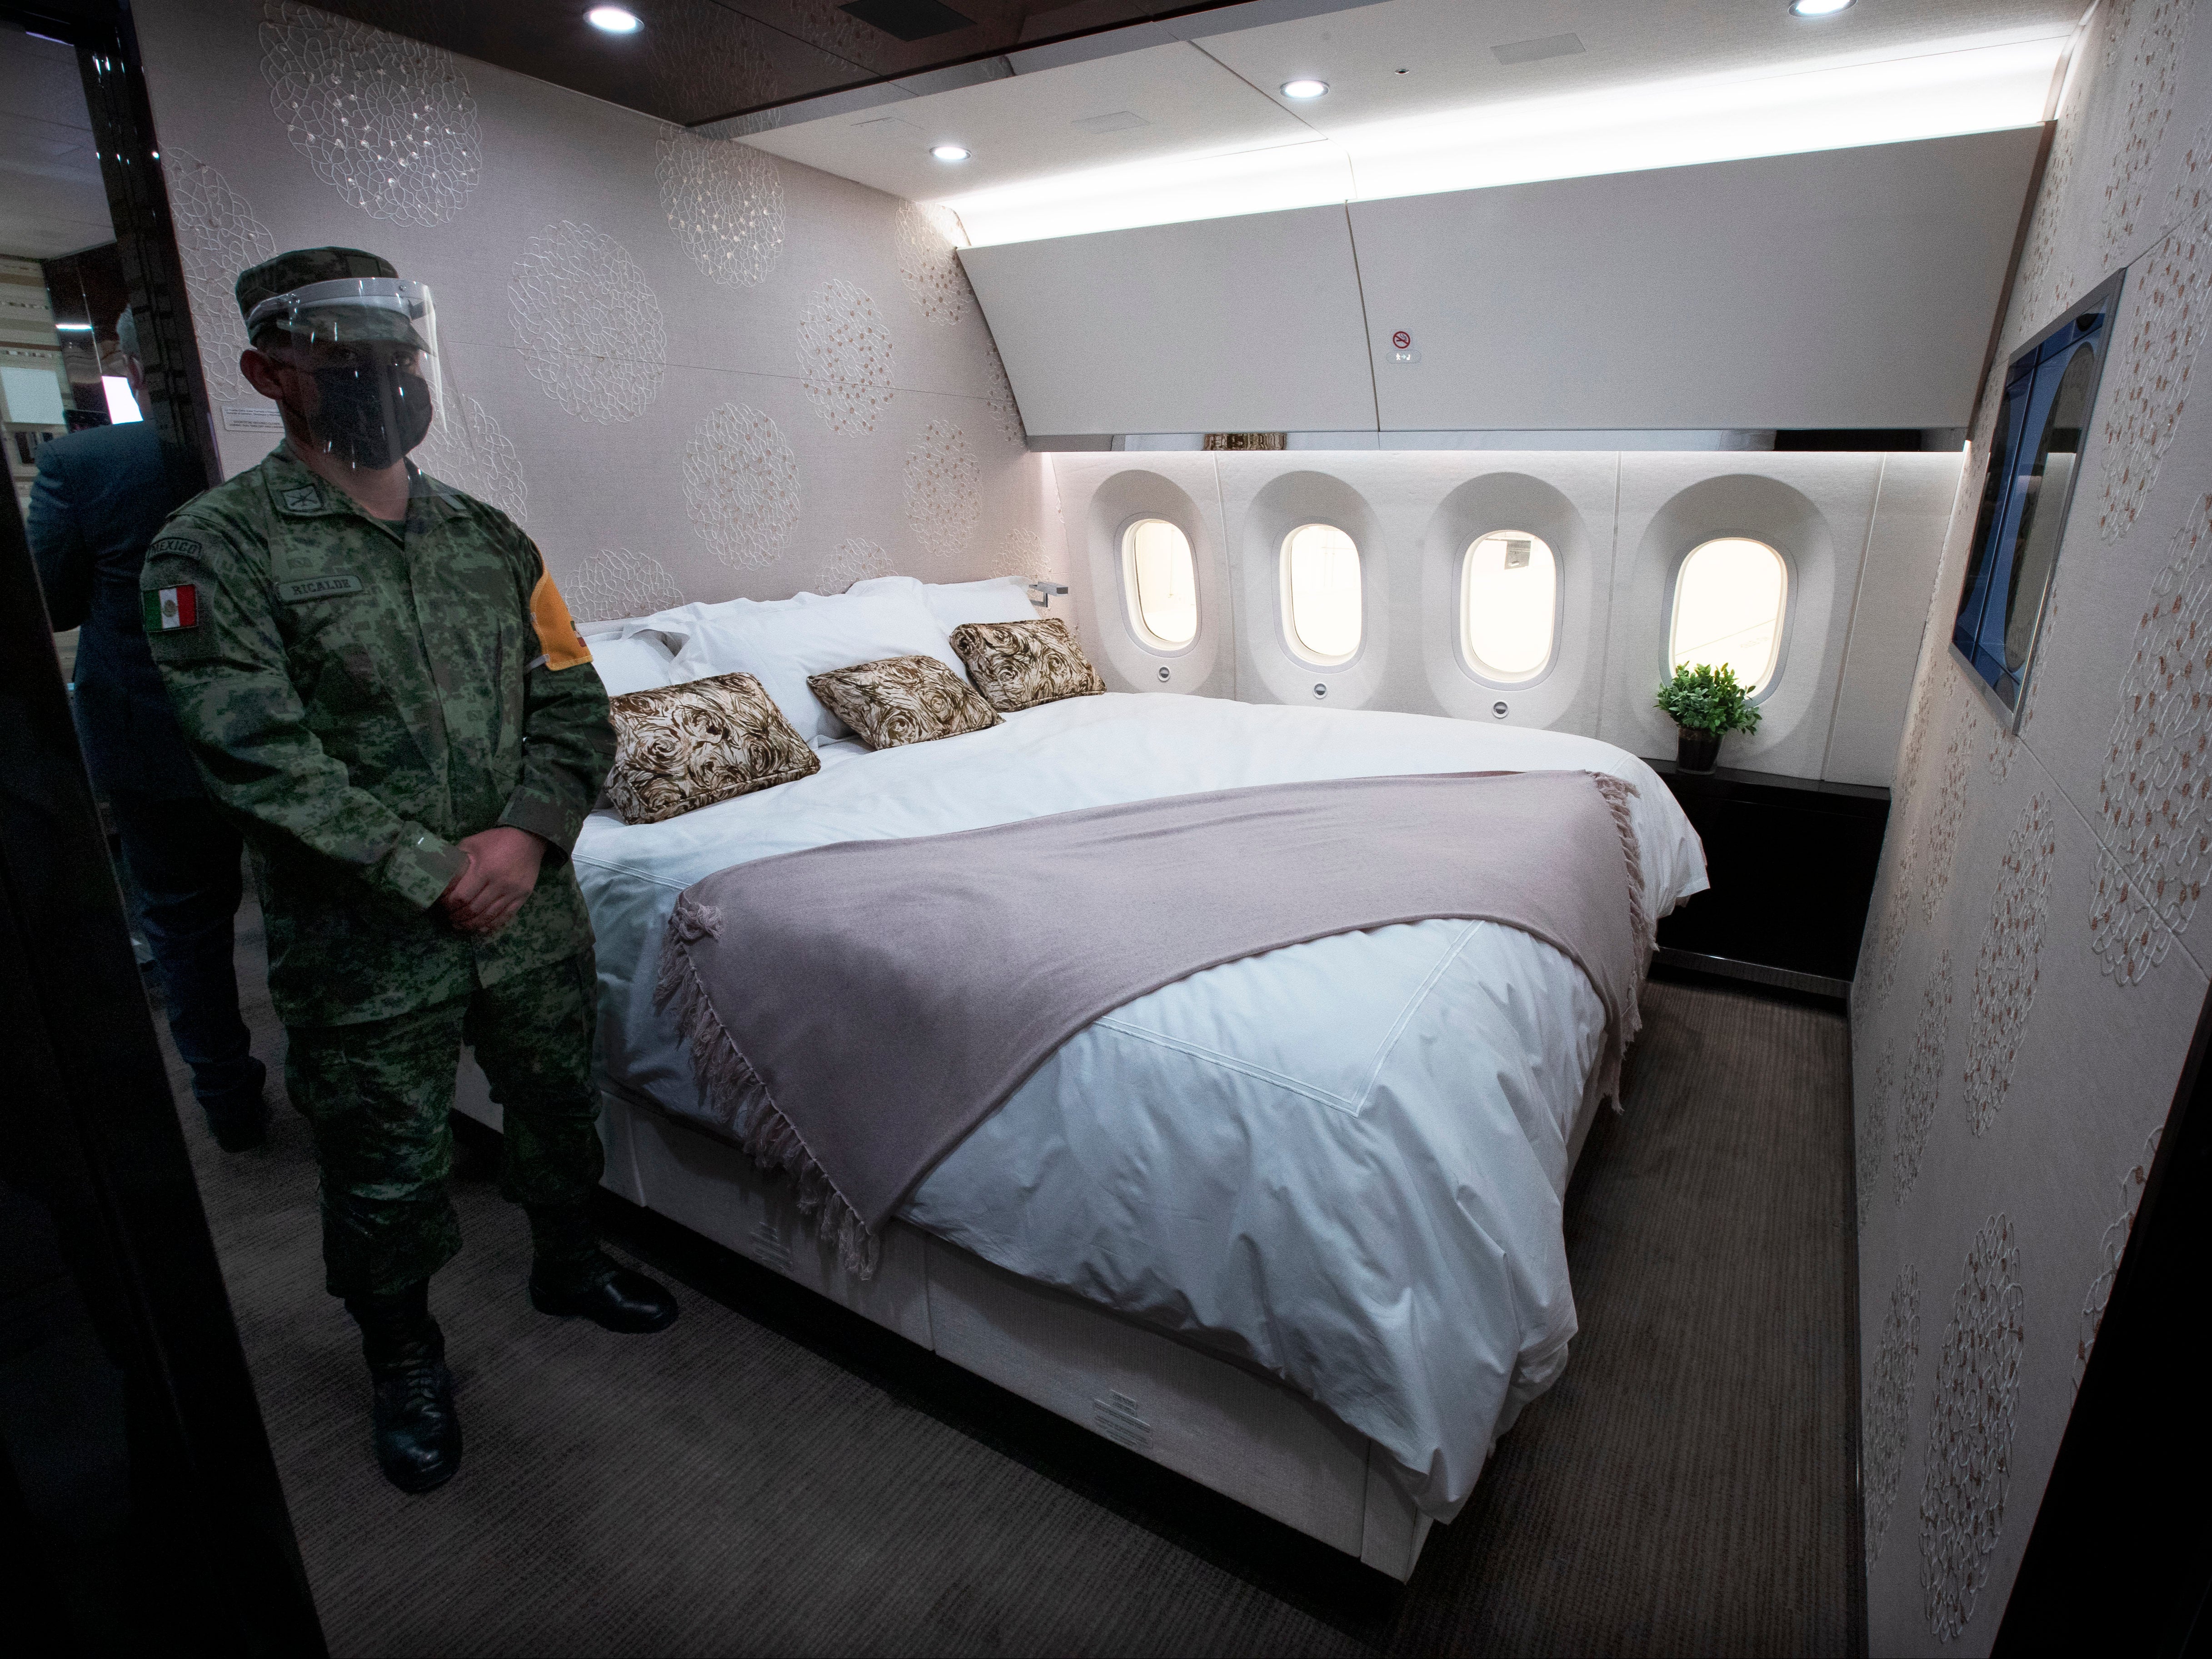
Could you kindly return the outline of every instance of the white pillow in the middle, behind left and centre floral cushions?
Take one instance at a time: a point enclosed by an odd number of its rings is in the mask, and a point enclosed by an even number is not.
[[[754,675],[783,719],[807,743],[821,745],[847,734],[845,721],[807,690],[807,675],[852,668],[883,657],[936,657],[967,679],[945,630],[920,595],[907,588],[878,593],[801,593],[796,599],[730,599],[686,606],[677,626],[690,633],[677,657],[679,679],[706,675]],[[675,622],[679,613],[664,613]]]

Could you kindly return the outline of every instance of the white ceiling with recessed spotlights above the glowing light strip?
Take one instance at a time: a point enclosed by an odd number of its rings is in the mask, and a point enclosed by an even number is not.
[[[1836,18],[1803,20],[1785,0],[1380,0],[1259,27],[1234,27],[1250,13],[1230,9],[1124,31],[1128,49],[1110,55],[794,119],[748,142],[891,195],[958,206],[982,190],[1128,161],[1334,148],[1378,122],[1442,111],[2055,40],[2084,4],[1858,0]],[[1124,35],[1079,44],[1108,51]],[[1582,51],[1515,64],[1495,53],[1553,35],[1575,35]],[[1281,97],[1294,75],[1329,82],[1327,97]],[[1095,131],[1095,117],[1121,113],[1144,124]],[[942,142],[964,144],[971,159],[936,161],[929,148]]]

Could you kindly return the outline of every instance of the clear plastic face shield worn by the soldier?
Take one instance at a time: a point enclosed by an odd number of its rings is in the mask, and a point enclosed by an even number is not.
[[[427,285],[400,276],[307,283],[254,305],[246,338],[314,378],[307,431],[349,467],[389,467],[429,436],[442,387]]]

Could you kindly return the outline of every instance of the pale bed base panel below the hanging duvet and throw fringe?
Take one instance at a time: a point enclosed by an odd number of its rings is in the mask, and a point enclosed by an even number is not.
[[[876,1276],[856,1279],[814,1239],[787,1183],[661,1113],[604,1099],[611,1192],[1400,1584],[1411,1577],[1431,1517],[1383,1447],[1307,1396],[902,1221],[883,1234]],[[469,1057],[456,1106],[500,1128]],[[1575,1152],[1590,1119],[1586,1104]]]

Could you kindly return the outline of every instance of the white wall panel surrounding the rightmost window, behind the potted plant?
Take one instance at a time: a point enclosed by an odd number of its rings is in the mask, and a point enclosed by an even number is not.
[[[1756,467],[1719,453],[1624,453],[1597,734],[1630,754],[1674,754],[1674,723],[1652,703],[1670,675],[1674,573],[1701,542],[1750,535],[1790,568],[1783,657],[1759,730],[1732,732],[1721,763],[1818,776],[1880,469],[1876,453],[1770,453]]]

